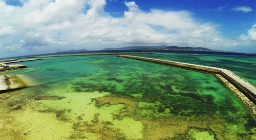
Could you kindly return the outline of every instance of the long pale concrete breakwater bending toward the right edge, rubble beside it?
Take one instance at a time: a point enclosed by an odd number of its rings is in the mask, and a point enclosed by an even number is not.
[[[209,67],[209,66],[201,66],[196,64],[181,63],[181,62],[175,62],[175,61],[135,57],[131,55],[118,55],[118,57],[135,59],[135,60],[174,66],[174,67],[180,67],[180,68],[191,69],[191,70],[196,70],[201,72],[220,74],[225,79],[227,79],[230,83],[232,83],[233,86],[238,88],[248,99],[250,99],[254,104],[256,104],[256,88],[252,86],[248,81],[245,81],[243,78],[234,74],[230,70],[216,68],[216,67]]]

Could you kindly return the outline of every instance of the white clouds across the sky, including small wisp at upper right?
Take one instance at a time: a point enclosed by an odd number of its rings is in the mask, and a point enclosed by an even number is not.
[[[114,17],[104,10],[105,0],[19,2],[22,6],[7,5],[0,0],[0,58],[131,45],[247,48],[255,52],[256,23],[246,33],[228,38],[222,35],[220,25],[203,22],[187,10],[143,11],[135,2],[125,1],[128,10],[122,17]],[[252,11],[244,8],[232,11]]]

